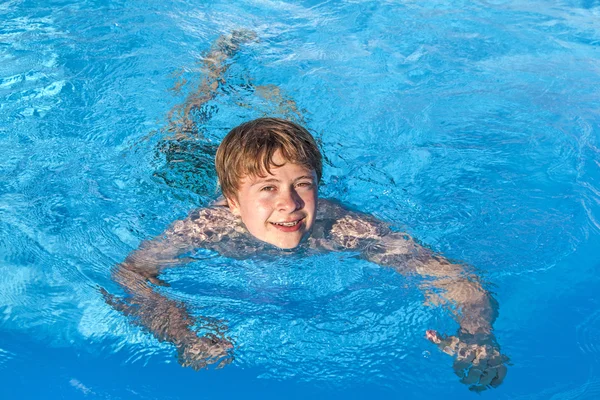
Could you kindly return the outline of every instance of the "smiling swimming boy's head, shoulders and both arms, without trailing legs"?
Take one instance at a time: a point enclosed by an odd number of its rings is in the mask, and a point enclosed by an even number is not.
[[[351,249],[382,266],[429,278],[428,286],[424,285],[428,301],[452,306],[460,330],[447,338],[427,331],[426,337],[456,356],[455,371],[472,389],[502,382],[505,357],[492,334],[497,315],[492,296],[463,266],[433,254],[407,234],[318,199],[322,158],[306,129],[275,118],[246,122],[224,138],[217,150],[216,169],[224,198],[143,243],[114,272],[129,297],[115,300],[106,295],[159,340],[175,344],[184,366],[224,365],[232,360],[232,346],[215,335],[198,337],[185,306],[150,285],[164,285],[160,273],[185,262],[180,255],[196,248],[232,258],[274,247]]]

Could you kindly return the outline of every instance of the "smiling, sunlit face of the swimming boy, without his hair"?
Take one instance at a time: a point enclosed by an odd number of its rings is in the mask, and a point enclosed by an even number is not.
[[[271,174],[245,177],[237,199],[227,199],[231,212],[263,242],[292,249],[310,233],[317,211],[317,175],[312,169],[273,156]],[[284,164],[285,163],[285,164]]]

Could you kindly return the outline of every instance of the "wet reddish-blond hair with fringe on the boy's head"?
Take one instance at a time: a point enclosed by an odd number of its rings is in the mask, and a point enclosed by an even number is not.
[[[242,179],[265,177],[273,167],[277,151],[285,162],[315,171],[321,181],[323,161],[312,135],[300,125],[279,118],[258,118],[233,128],[217,149],[215,167],[223,195],[237,199]]]

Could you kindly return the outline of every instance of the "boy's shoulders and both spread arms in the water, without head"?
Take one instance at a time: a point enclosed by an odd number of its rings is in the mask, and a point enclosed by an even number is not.
[[[292,215],[299,214],[298,209],[291,208],[290,211]],[[450,263],[420,246],[409,235],[394,232],[385,223],[350,211],[335,201],[318,199],[315,211],[313,223],[297,248],[316,252],[351,250],[400,273],[423,276],[426,278],[422,283],[426,304],[447,306],[460,325],[456,336],[446,338],[428,331],[426,337],[442,351],[455,356],[454,369],[463,383],[475,390],[483,390],[488,385],[497,386],[502,382],[506,374],[506,357],[501,355],[492,333],[497,303],[483,289],[477,276],[465,266]],[[281,231],[280,235],[290,235],[293,240],[300,231]],[[199,337],[193,331],[195,319],[188,313],[186,305],[159,294],[153,286],[168,285],[160,279],[161,272],[194,261],[186,255],[199,248],[235,259],[265,254],[278,257],[282,251],[290,251],[252,235],[239,213],[222,199],[174,222],[163,234],[142,244],[119,265],[114,279],[129,297],[118,300],[107,295],[108,301],[134,317],[159,340],[175,344],[180,363],[195,369],[214,363],[219,366],[230,363],[233,345],[225,336]]]

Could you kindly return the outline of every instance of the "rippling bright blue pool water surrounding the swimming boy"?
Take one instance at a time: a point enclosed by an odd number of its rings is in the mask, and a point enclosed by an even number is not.
[[[352,253],[170,270],[236,344],[193,371],[108,306],[111,268],[215,197],[233,126],[322,143],[321,195],[475,266],[510,359],[490,399],[600,398],[600,3],[3,1],[2,398],[469,398],[423,338],[456,323]],[[225,82],[169,129],[238,29]]]

